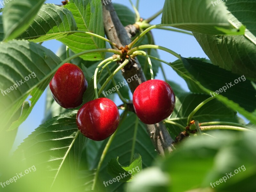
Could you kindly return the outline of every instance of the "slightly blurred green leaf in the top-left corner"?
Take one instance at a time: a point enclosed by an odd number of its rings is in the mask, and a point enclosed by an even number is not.
[[[14,39],[25,31],[44,0],[15,0],[9,1],[4,7],[4,40]]]

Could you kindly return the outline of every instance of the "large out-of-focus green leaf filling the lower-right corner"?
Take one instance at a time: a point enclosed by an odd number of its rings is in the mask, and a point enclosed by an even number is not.
[[[253,191],[256,187],[255,132],[224,131],[212,135],[214,138],[201,136],[186,140],[164,160],[161,167],[169,174],[170,189],[183,192],[202,187],[207,191],[206,188],[212,189],[211,183],[237,170],[231,178],[226,177],[226,182],[212,185],[214,190]]]

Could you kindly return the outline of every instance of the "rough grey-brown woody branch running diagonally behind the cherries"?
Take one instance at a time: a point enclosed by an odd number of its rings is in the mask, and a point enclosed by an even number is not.
[[[104,28],[108,39],[112,42],[115,42],[120,47],[125,47],[125,45],[130,44],[131,39],[128,36],[127,31],[122,25],[121,21],[119,20],[113,4],[109,2],[106,5],[102,3],[102,5]],[[113,47],[113,49],[116,49],[116,47]],[[146,81],[146,77],[141,69],[140,63],[137,58],[131,59],[130,63],[122,69],[122,73],[126,80],[131,76],[134,76],[135,74],[138,75],[139,79],[137,81],[134,80],[131,83],[128,83],[132,93],[139,84]],[[164,156],[166,152],[172,152],[172,150],[174,149],[172,145],[174,140],[171,138],[163,123],[147,125],[147,132],[156,148],[156,151],[160,155]]]

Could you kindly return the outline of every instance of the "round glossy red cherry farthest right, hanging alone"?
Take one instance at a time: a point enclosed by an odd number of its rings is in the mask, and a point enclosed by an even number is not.
[[[156,124],[170,116],[175,107],[172,87],[162,80],[148,80],[133,93],[133,107],[145,124]]]

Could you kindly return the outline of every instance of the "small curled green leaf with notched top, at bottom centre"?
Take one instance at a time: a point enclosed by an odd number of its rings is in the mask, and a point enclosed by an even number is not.
[[[122,166],[118,157],[113,158],[108,162],[107,170],[113,178],[119,178],[121,182],[132,182],[134,177],[142,170],[141,156],[140,154],[134,154],[133,161],[129,166]]]

